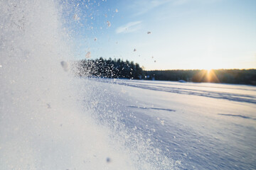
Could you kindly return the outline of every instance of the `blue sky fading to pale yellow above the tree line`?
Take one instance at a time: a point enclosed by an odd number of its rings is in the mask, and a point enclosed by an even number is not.
[[[148,70],[256,68],[255,0],[72,4],[66,17],[77,59],[122,58]]]

